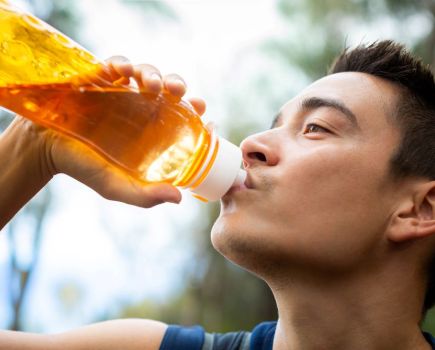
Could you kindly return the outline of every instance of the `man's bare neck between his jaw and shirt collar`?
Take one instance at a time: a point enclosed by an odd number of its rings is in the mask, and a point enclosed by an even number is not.
[[[408,270],[292,273],[291,285],[270,283],[279,312],[273,350],[430,349],[419,327],[425,286]]]

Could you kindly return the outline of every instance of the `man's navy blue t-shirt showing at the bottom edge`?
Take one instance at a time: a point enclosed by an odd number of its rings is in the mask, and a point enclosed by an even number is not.
[[[206,333],[200,326],[169,326],[160,350],[272,350],[276,322],[263,322],[252,332]],[[423,333],[432,349],[435,339]]]

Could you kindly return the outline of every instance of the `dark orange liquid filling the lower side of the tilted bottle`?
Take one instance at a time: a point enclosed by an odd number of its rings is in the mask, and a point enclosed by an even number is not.
[[[0,105],[84,142],[149,183],[186,185],[210,142],[209,132],[188,105],[122,87],[0,87]]]

